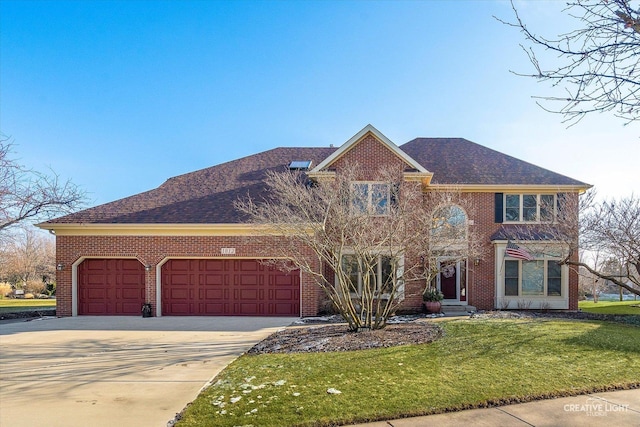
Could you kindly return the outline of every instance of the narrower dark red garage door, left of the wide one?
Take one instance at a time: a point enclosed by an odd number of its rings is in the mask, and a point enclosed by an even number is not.
[[[86,259],[78,266],[78,314],[139,316],[144,283],[136,259]]]

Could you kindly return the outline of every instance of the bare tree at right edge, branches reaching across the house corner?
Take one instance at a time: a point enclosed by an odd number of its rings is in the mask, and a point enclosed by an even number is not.
[[[553,221],[518,227],[511,237],[561,243],[561,263],[640,295],[640,199],[632,195],[598,202],[593,191],[559,199]],[[591,256],[579,257],[579,251]],[[612,263],[619,267],[612,269]]]

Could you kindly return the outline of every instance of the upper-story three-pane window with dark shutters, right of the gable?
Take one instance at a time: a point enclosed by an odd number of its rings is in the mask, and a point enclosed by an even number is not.
[[[556,213],[555,194],[505,194],[505,222],[551,222]]]

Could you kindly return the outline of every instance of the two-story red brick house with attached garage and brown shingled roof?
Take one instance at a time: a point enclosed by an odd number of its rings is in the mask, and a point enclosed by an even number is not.
[[[560,197],[590,185],[461,138],[397,146],[368,125],[337,148],[274,148],[39,224],[56,235],[58,315],[140,315],[143,304],[156,316],[318,314],[325,300],[312,278],[262,263],[279,238],[252,239],[256,229],[234,202],[263,194],[266,171],[306,168],[318,179],[353,161],[371,175],[363,182],[394,164],[423,191],[455,186],[473,199],[474,217],[457,215],[481,235],[486,255],[447,266],[438,278],[445,304],[577,309],[577,274],[559,254],[536,252],[534,237],[514,245],[509,229],[553,218]],[[420,304],[407,298],[404,308]]]

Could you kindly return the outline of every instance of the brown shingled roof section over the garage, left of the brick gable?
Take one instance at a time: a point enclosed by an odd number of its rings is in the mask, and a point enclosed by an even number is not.
[[[169,178],[160,187],[45,224],[230,224],[244,218],[233,208],[239,197],[260,197],[269,170],[287,170],[293,160],[314,164],[336,148],[275,148]]]

